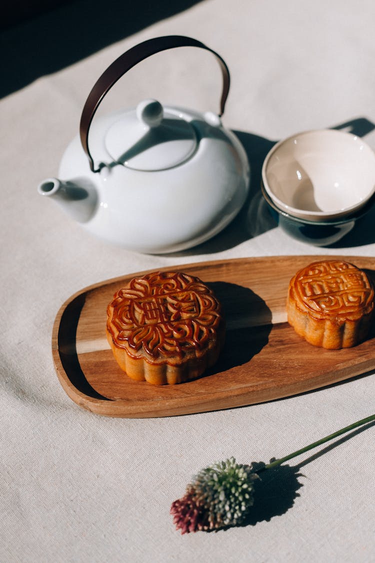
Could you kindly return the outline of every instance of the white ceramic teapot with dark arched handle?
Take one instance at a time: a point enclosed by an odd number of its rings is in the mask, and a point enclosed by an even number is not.
[[[93,117],[121,76],[153,53],[192,46],[212,52],[223,74],[220,116],[229,70],[215,51],[189,37],[149,39],[126,51],[101,75],[67,147],[57,178],[38,186],[92,234],[144,253],[200,244],[233,220],[249,191],[249,162],[219,115],[141,101],[134,110]]]

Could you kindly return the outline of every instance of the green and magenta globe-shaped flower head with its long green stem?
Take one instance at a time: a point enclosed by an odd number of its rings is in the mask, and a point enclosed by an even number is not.
[[[254,502],[254,481],[259,478],[257,473],[277,467],[288,459],[372,421],[375,421],[375,414],[283,458],[272,459],[266,465],[257,464],[256,469],[254,463],[251,466],[242,465],[233,457],[202,469],[188,484],[184,496],[171,505],[170,513],[176,529],[186,534],[241,524]]]

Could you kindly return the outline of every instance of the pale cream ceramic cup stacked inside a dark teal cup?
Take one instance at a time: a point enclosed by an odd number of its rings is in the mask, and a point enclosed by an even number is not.
[[[375,152],[362,138],[335,129],[297,133],[269,151],[262,180],[288,216],[340,221],[375,193]]]

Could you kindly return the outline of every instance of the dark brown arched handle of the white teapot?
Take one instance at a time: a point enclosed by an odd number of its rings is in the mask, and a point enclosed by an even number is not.
[[[82,110],[81,120],[79,124],[79,135],[82,142],[83,150],[87,154],[90,168],[92,172],[98,172],[99,169],[94,169],[94,161],[91,156],[89,146],[88,146],[88,133],[91,126],[93,117],[100,105],[103,97],[106,93],[114,86],[114,84],[121,78],[128,70],[133,68],[138,62],[147,59],[150,55],[159,53],[160,51],[165,51],[174,47],[200,47],[206,49],[215,55],[219,62],[220,68],[223,75],[223,89],[222,97],[220,99],[220,113],[223,115],[225,102],[227,101],[229,93],[230,75],[228,66],[225,61],[212,49],[206,47],[204,43],[197,41],[197,39],[192,39],[191,37],[184,37],[183,35],[165,35],[165,37],[156,37],[153,39],[148,39],[139,43],[134,47],[130,48],[128,51],[120,55],[112,64],[103,72],[97,82],[94,84],[91,92],[88,95],[85,105]]]

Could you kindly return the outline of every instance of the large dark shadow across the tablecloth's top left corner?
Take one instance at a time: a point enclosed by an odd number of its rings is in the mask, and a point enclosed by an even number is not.
[[[9,25],[1,32],[2,56],[0,97],[24,88],[35,79],[55,73],[92,53],[129,37],[140,30],[198,4],[201,0],[69,0],[51,10],[53,3],[44,2],[44,11],[31,18],[27,10],[8,15]],[[37,2],[38,3],[38,2]],[[39,4],[43,2],[39,2]],[[24,2],[25,10],[27,2]],[[22,2],[14,3],[13,12]],[[12,6],[5,7],[5,11]],[[6,21],[2,14],[2,21]]]

